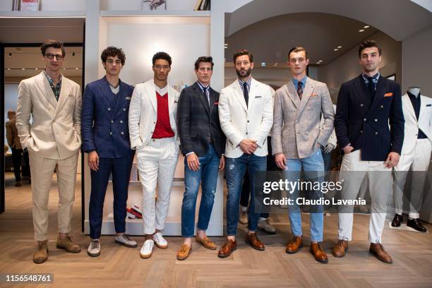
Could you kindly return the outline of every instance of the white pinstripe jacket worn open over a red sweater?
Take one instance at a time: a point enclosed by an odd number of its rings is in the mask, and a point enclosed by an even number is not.
[[[176,118],[179,95],[180,93],[168,84],[169,124],[171,124],[176,141],[178,141]],[[129,106],[129,138],[131,138],[132,149],[142,148],[150,142],[153,131],[155,131],[156,121],[155,81],[148,80],[145,83],[136,85],[132,93]]]

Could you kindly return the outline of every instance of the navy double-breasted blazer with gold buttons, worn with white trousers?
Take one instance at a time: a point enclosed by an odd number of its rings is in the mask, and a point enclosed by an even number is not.
[[[335,131],[340,148],[351,143],[354,150],[361,150],[361,160],[385,161],[389,152],[400,154],[404,141],[400,85],[380,76],[371,103],[361,75],[343,83]]]

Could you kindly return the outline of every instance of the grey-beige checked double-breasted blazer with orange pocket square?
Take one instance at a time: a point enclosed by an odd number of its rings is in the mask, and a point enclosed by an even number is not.
[[[320,128],[321,113],[324,122]],[[307,78],[301,100],[289,80],[276,91],[272,127],[272,153],[287,159],[306,158],[325,146],[333,130],[335,111],[325,83]]]

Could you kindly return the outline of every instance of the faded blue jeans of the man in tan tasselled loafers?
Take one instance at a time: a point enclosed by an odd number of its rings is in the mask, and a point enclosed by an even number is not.
[[[219,174],[219,161],[215,148],[210,145],[207,154],[198,157],[200,169],[193,171],[188,167],[187,158],[184,158],[184,196],[181,205],[181,236],[193,237],[195,228],[196,198],[201,184],[201,203],[198,214],[198,229],[207,230],[212,215],[217,175]]]

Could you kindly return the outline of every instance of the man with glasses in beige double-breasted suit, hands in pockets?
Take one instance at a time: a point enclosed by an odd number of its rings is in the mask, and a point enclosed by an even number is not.
[[[65,55],[62,42],[47,40],[40,49],[45,71],[21,81],[16,115],[21,145],[28,148],[30,154],[33,226],[38,242],[33,255],[35,263],[43,263],[48,258],[48,198],[54,169],[59,185],[59,236],[56,247],[71,253],[80,252],[80,246],[73,244],[68,235],[81,146],[80,86],[60,73]]]

